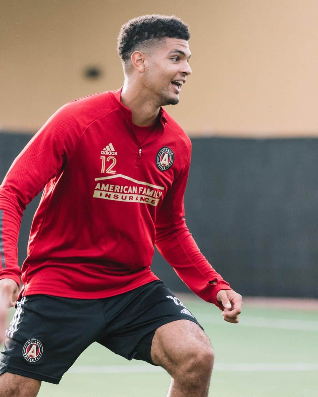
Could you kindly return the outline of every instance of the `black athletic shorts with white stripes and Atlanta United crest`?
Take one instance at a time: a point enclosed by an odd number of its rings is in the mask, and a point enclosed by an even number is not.
[[[153,364],[150,349],[155,330],[181,319],[198,324],[159,280],[102,299],[28,295],[17,302],[6,332],[0,374],[11,372],[58,384],[95,341],[128,360]]]

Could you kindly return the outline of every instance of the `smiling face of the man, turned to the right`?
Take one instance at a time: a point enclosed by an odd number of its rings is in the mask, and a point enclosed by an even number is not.
[[[157,97],[158,105],[176,105],[186,76],[192,73],[189,44],[182,39],[163,39],[146,55],[143,76],[145,89]]]

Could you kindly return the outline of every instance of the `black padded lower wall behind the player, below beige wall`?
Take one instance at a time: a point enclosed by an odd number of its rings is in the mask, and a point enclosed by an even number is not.
[[[0,179],[31,135],[0,134]],[[186,222],[201,251],[243,295],[318,297],[318,139],[192,140]],[[22,219],[22,264],[39,196]],[[156,252],[153,271],[187,287]]]

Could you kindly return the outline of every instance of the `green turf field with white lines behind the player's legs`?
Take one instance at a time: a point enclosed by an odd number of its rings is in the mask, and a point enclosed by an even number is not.
[[[318,312],[244,307],[239,324],[223,321],[203,301],[183,301],[215,350],[215,397],[317,397]],[[59,385],[42,383],[39,397],[165,397],[170,378],[160,368],[126,361],[91,345]]]

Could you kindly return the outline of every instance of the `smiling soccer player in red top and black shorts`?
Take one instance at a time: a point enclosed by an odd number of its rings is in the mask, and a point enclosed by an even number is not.
[[[144,15],[121,27],[125,81],[62,106],[13,162],[0,190],[1,302],[16,301],[0,355],[0,395],[58,384],[94,341],[165,368],[170,397],[206,397],[214,354],[193,314],[150,270],[155,244],[224,320],[241,295],[201,254],[184,220],[191,143],[161,106],[187,77],[188,26]],[[26,205],[44,188],[27,258],[17,265]],[[19,276],[23,283],[19,289]]]

